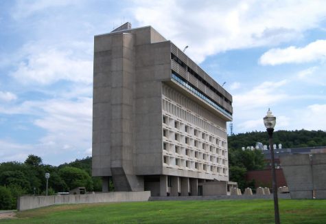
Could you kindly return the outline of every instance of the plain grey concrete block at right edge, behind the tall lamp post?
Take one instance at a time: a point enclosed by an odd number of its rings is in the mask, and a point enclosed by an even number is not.
[[[326,199],[326,153],[280,157],[292,199]]]

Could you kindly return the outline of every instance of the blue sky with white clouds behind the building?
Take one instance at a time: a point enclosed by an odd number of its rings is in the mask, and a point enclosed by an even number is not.
[[[326,1],[0,1],[0,162],[91,155],[93,36],[152,25],[233,96],[233,133],[326,130]],[[229,127],[229,124],[228,124]]]

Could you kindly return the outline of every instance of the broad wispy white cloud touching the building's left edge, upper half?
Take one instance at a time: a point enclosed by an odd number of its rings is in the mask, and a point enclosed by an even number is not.
[[[93,62],[75,58],[72,52],[37,46],[25,47],[21,60],[11,76],[23,84],[49,85],[58,80],[90,84],[93,81]]]

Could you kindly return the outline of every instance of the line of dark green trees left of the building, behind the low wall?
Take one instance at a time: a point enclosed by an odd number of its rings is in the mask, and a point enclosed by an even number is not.
[[[50,174],[49,195],[77,187],[85,187],[87,191],[102,190],[102,179],[91,177],[91,157],[51,166],[43,164],[36,155],[29,155],[23,163],[0,164],[0,210],[16,208],[16,198],[21,195],[45,195],[46,172]]]

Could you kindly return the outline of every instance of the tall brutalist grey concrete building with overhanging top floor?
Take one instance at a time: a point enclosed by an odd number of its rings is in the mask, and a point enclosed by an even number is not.
[[[93,176],[103,191],[226,194],[232,96],[154,28],[95,36]]]

